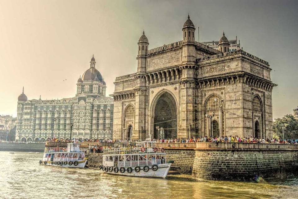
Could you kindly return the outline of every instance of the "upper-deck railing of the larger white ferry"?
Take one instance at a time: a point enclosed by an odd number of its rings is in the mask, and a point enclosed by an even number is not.
[[[103,154],[139,154],[139,153],[155,153],[164,152],[163,148],[156,147],[124,147],[124,148],[111,148],[104,149]]]

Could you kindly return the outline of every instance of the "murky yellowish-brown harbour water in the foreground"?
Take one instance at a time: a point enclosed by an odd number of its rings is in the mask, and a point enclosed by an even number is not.
[[[0,151],[0,198],[298,198],[298,177],[262,183],[137,178],[39,165],[42,155]]]

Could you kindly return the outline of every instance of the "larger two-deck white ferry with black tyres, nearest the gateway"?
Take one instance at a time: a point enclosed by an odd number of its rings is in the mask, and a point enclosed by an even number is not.
[[[155,141],[121,143],[113,149],[104,149],[99,169],[107,174],[165,178],[174,161],[166,162],[163,148]]]

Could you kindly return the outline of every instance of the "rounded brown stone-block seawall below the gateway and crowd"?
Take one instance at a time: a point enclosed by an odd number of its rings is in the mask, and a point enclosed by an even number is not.
[[[251,181],[298,173],[298,145],[257,143],[156,143],[172,170],[208,180]]]

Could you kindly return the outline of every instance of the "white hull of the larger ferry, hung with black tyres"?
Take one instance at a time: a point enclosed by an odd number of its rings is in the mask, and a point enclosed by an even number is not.
[[[153,171],[151,169],[151,166],[149,166],[149,170],[147,172],[145,172],[143,170],[143,167],[140,167],[141,170],[139,172],[136,172],[134,170],[134,168],[132,168],[132,172],[128,173],[127,172],[127,167],[125,167],[125,171],[124,173],[121,173],[120,171],[118,171],[117,173],[114,172],[114,170],[112,172],[105,172],[102,171],[102,173],[106,173],[106,174],[113,174],[113,175],[125,175],[125,176],[135,176],[135,177],[149,177],[149,178],[165,178],[169,172],[169,169],[171,167],[171,163],[166,163],[166,164],[159,164],[158,165],[158,169],[156,171]]]

